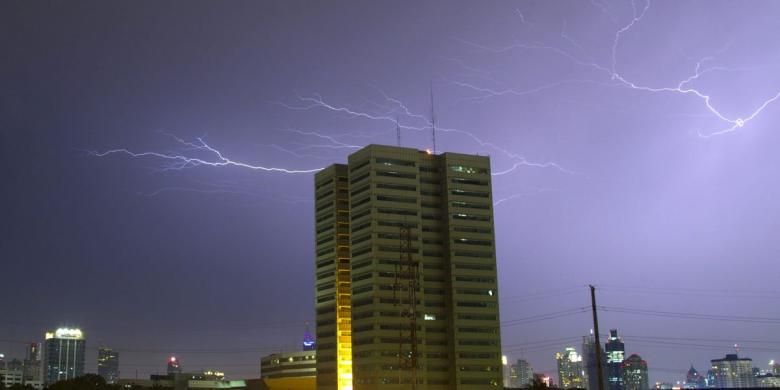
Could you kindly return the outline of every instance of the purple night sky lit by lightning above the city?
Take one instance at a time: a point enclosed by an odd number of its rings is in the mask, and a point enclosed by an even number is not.
[[[257,377],[314,319],[313,174],[294,171],[395,144],[396,118],[403,145],[431,148],[433,89],[437,150],[492,158],[510,359],[557,381],[594,284],[613,308],[602,333],[617,328],[653,382],[735,343],[766,368],[778,15],[775,1],[3,1],[0,353],[69,325],[89,371],[106,345],[124,377],[170,354]]]

